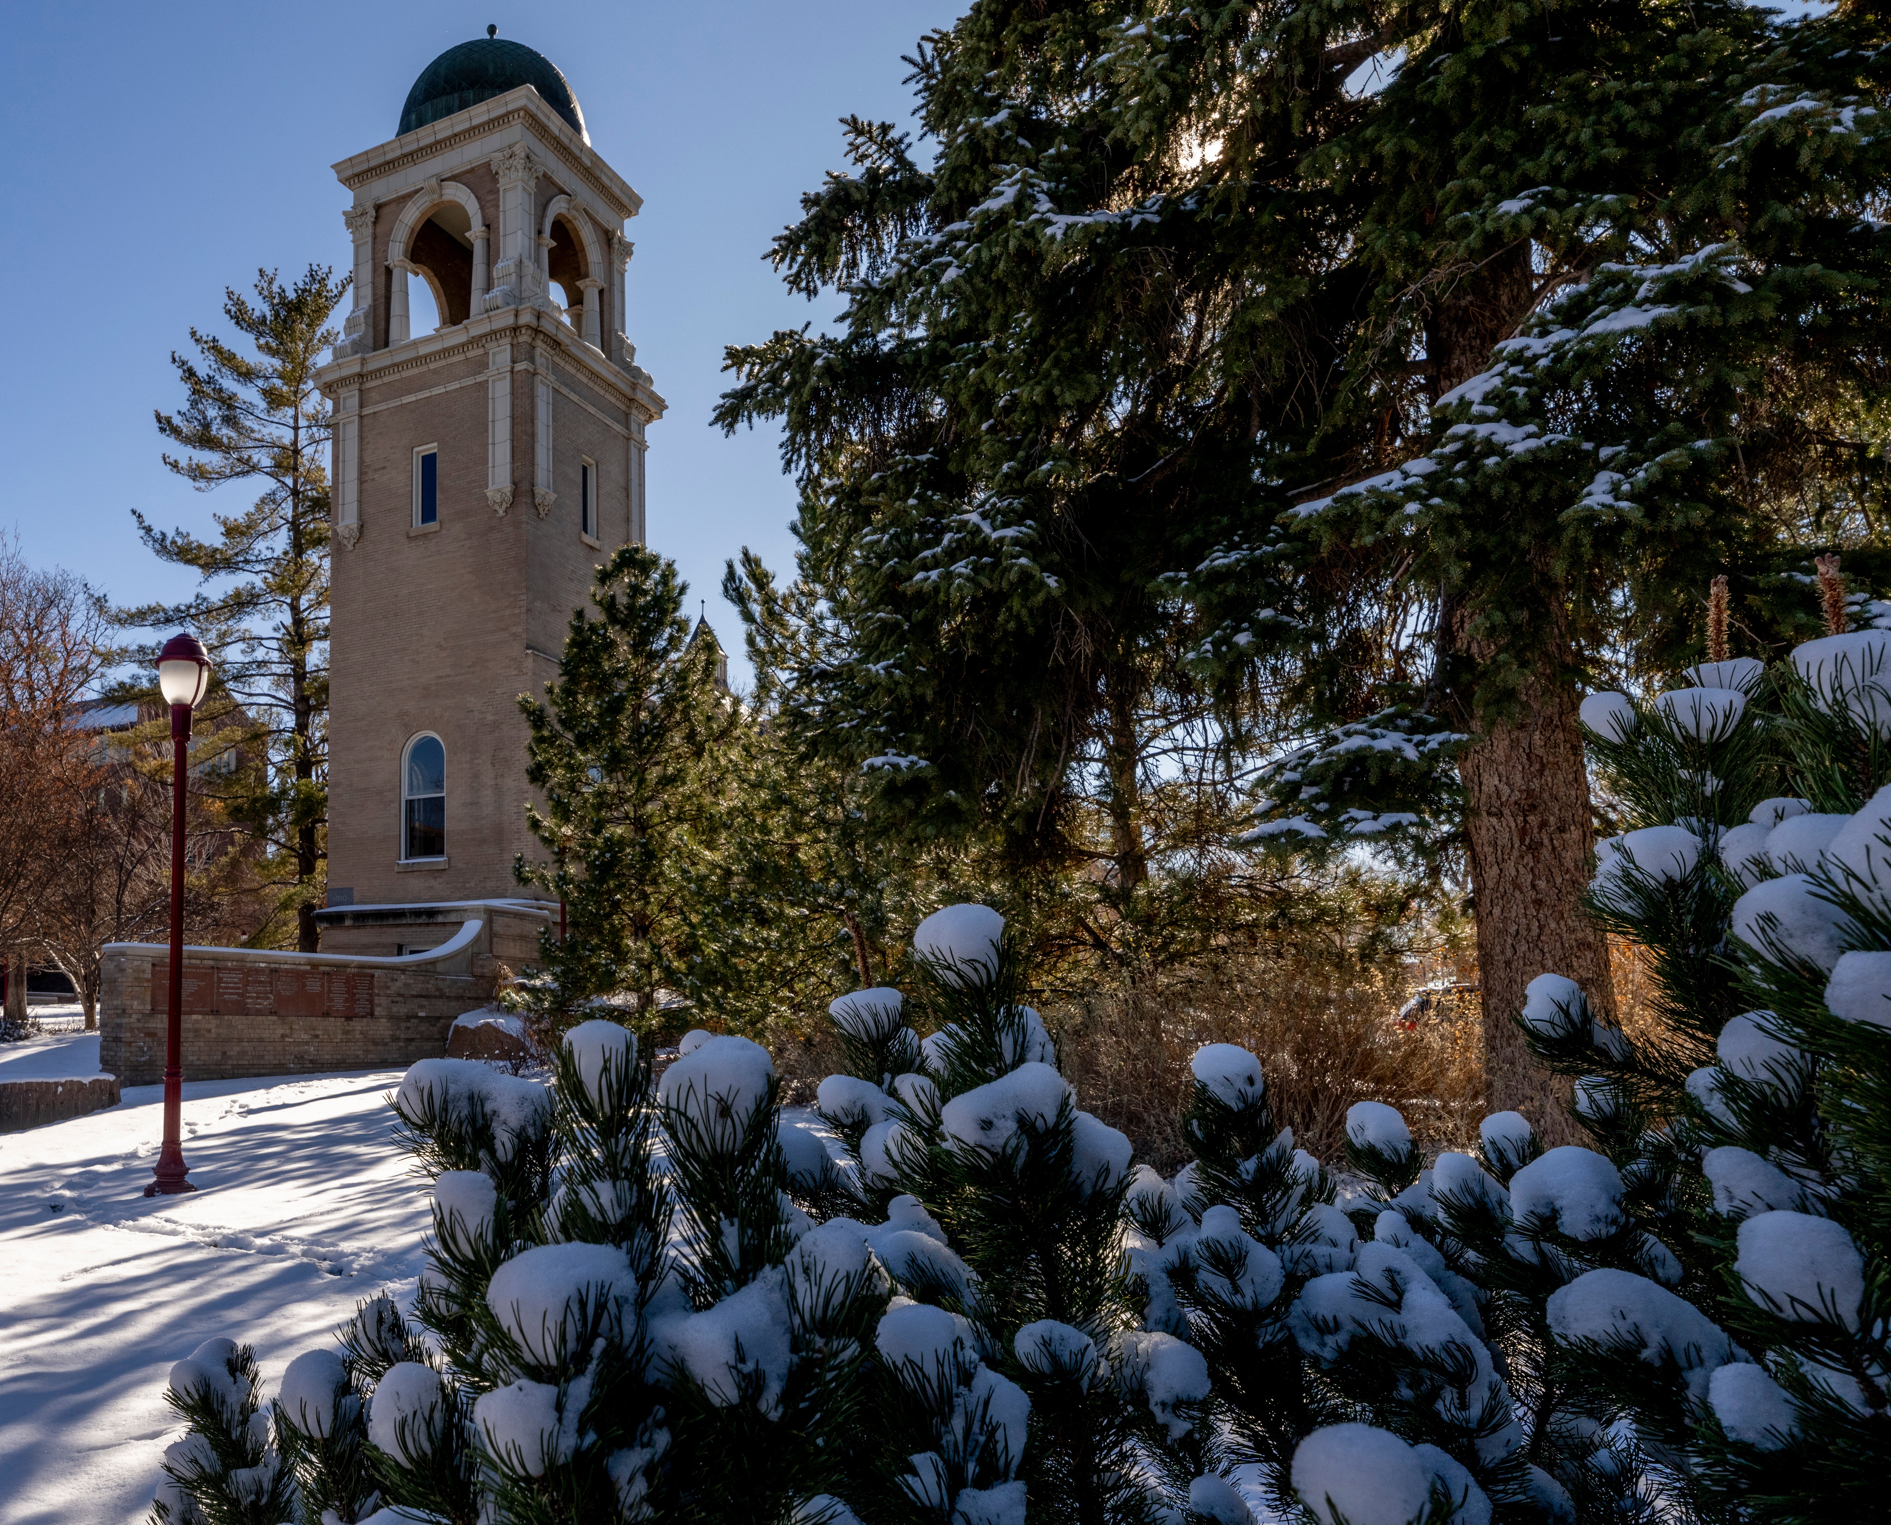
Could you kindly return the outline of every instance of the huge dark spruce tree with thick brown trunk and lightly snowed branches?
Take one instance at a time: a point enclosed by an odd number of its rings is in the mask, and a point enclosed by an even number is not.
[[[1730,2],[974,6],[915,59],[932,163],[849,123],[775,244],[841,331],[730,351],[722,421],[785,420],[802,480],[790,724],[1053,862],[1093,801],[1133,913],[1144,741],[1403,714],[1466,739],[1414,762],[1456,773],[1490,1009],[1554,966],[1607,1013],[1581,669],[1672,665],[1708,567],[1779,639],[1812,550],[1876,554],[1880,42]],[[1488,1041],[1492,1104],[1564,1141]]]

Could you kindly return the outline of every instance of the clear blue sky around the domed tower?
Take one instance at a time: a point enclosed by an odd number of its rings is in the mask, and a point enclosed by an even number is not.
[[[556,62],[592,144],[643,195],[630,336],[669,414],[651,431],[651,544],[739,660],[717,595],[743,544],[792,567],[792,484],[772,433],[724,438],[722,346],[830,312],[762,261],[804,189],[841,166],[838,117],[906,121],[900,55],[953,0],[630,4],[72,4],[6,13],[0,529],[121,601],[180,597],[130,508],[210,531],[250,495],[197,495],[159,463],[174,348],[217,327],[257,266],[346,268],[329,166],[393,136],[446,47],[499,34]],[[420,283],[414,283],[420,289]],[[418,319],[416,319],[418,331]]]

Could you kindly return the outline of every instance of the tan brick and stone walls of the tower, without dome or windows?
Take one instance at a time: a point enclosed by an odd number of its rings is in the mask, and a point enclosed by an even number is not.
[[[618,331],[630,246],[609,221],[633,210],[635,193],[531,91],[514,96],[337,166],[357,197],[348,219],[357,310],[346,325],[354,338],[321,372],[344,421],[335,461],[331,903],[524,894],[512,860],[533,856],[537,843],[526,830],[518,695],[543,695],[598,565],[641,535],[643,431],[664,404]],[[424,225],[442,195],[478,206],[494,280],[503,272],[507,285],[490,300],[475,293],[465,321],[390,346],[397,229]],[[601,278],[592,300],[611,333],[599,344],[560,314],[541,270],[520,274],[512,259],[546,257],[533,231],[560,208],[567,223],[558,236],[579,229]],[[412,236],[405,248],[412,257]],[[615,265],[615,283],[601,265]],[[420,446],[439,454],[439,522],[416,527]],[[584,459],[596,474],[596,535],[581,527]],[[425,731],[446,750],[446,860],[403,864],[403,756]]]

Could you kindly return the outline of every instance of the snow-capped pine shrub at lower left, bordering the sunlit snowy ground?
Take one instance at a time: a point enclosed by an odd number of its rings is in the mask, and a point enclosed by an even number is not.
[[[257,1521],[299,1502],[310,1525],[380,1506],[452,1525],[785,1525],[881,1465],[853,1440],[885,1274],[864,1230],[815,1230],[789,1196],[836,1179],[783,1147],[796,1130],[766,1053],[711,1039],[692,1060],[658,1094],[632,1034],[592,1020],[564,1036],[550,1087],[450,1060],[408,1071],[395,1111],[433,1177],[414,1315],[373,1298],[338,1355],[289,1364],[276,1512]],[[231,1372],[248,1398],[212,1383],[180,1402],[191,1431],[159,1519],[252,1517],[223,1506],[253,1487],[231,1478],[276,1453],[253,1362]]]

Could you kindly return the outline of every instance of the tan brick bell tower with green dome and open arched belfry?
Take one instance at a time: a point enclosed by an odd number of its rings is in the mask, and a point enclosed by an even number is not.
[[[335,166],[354,308],[320,374],[335,508],[318,920],[350,952],[427,947],[461,920],[446,907],[526,894],[516,699],[558,675],[594,569],[645,539],[664,399],[626,338],[641,198],[558,68],[494,30],[425,68],[391,140]],[[414,321],[416,280],[439,327]]]

